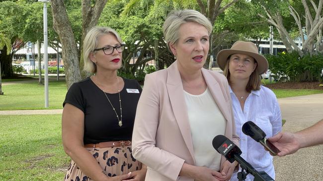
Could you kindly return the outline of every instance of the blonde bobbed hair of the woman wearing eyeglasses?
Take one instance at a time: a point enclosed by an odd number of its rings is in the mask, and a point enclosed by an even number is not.
[[[100,48],[96,46],[98,44],[99,38],[103,35],[114,35],[118,42],[122,44],[122,40],[115,30],[108,27],[98,26],[91,28],[90,31],[87,32],[83,42],[83,70],[86,72],[96,73],[96,65],[94,64],[94,62],[91,61],[89,55],[91,52],[95,53],[95,51],[93,51],[95,48]]]

